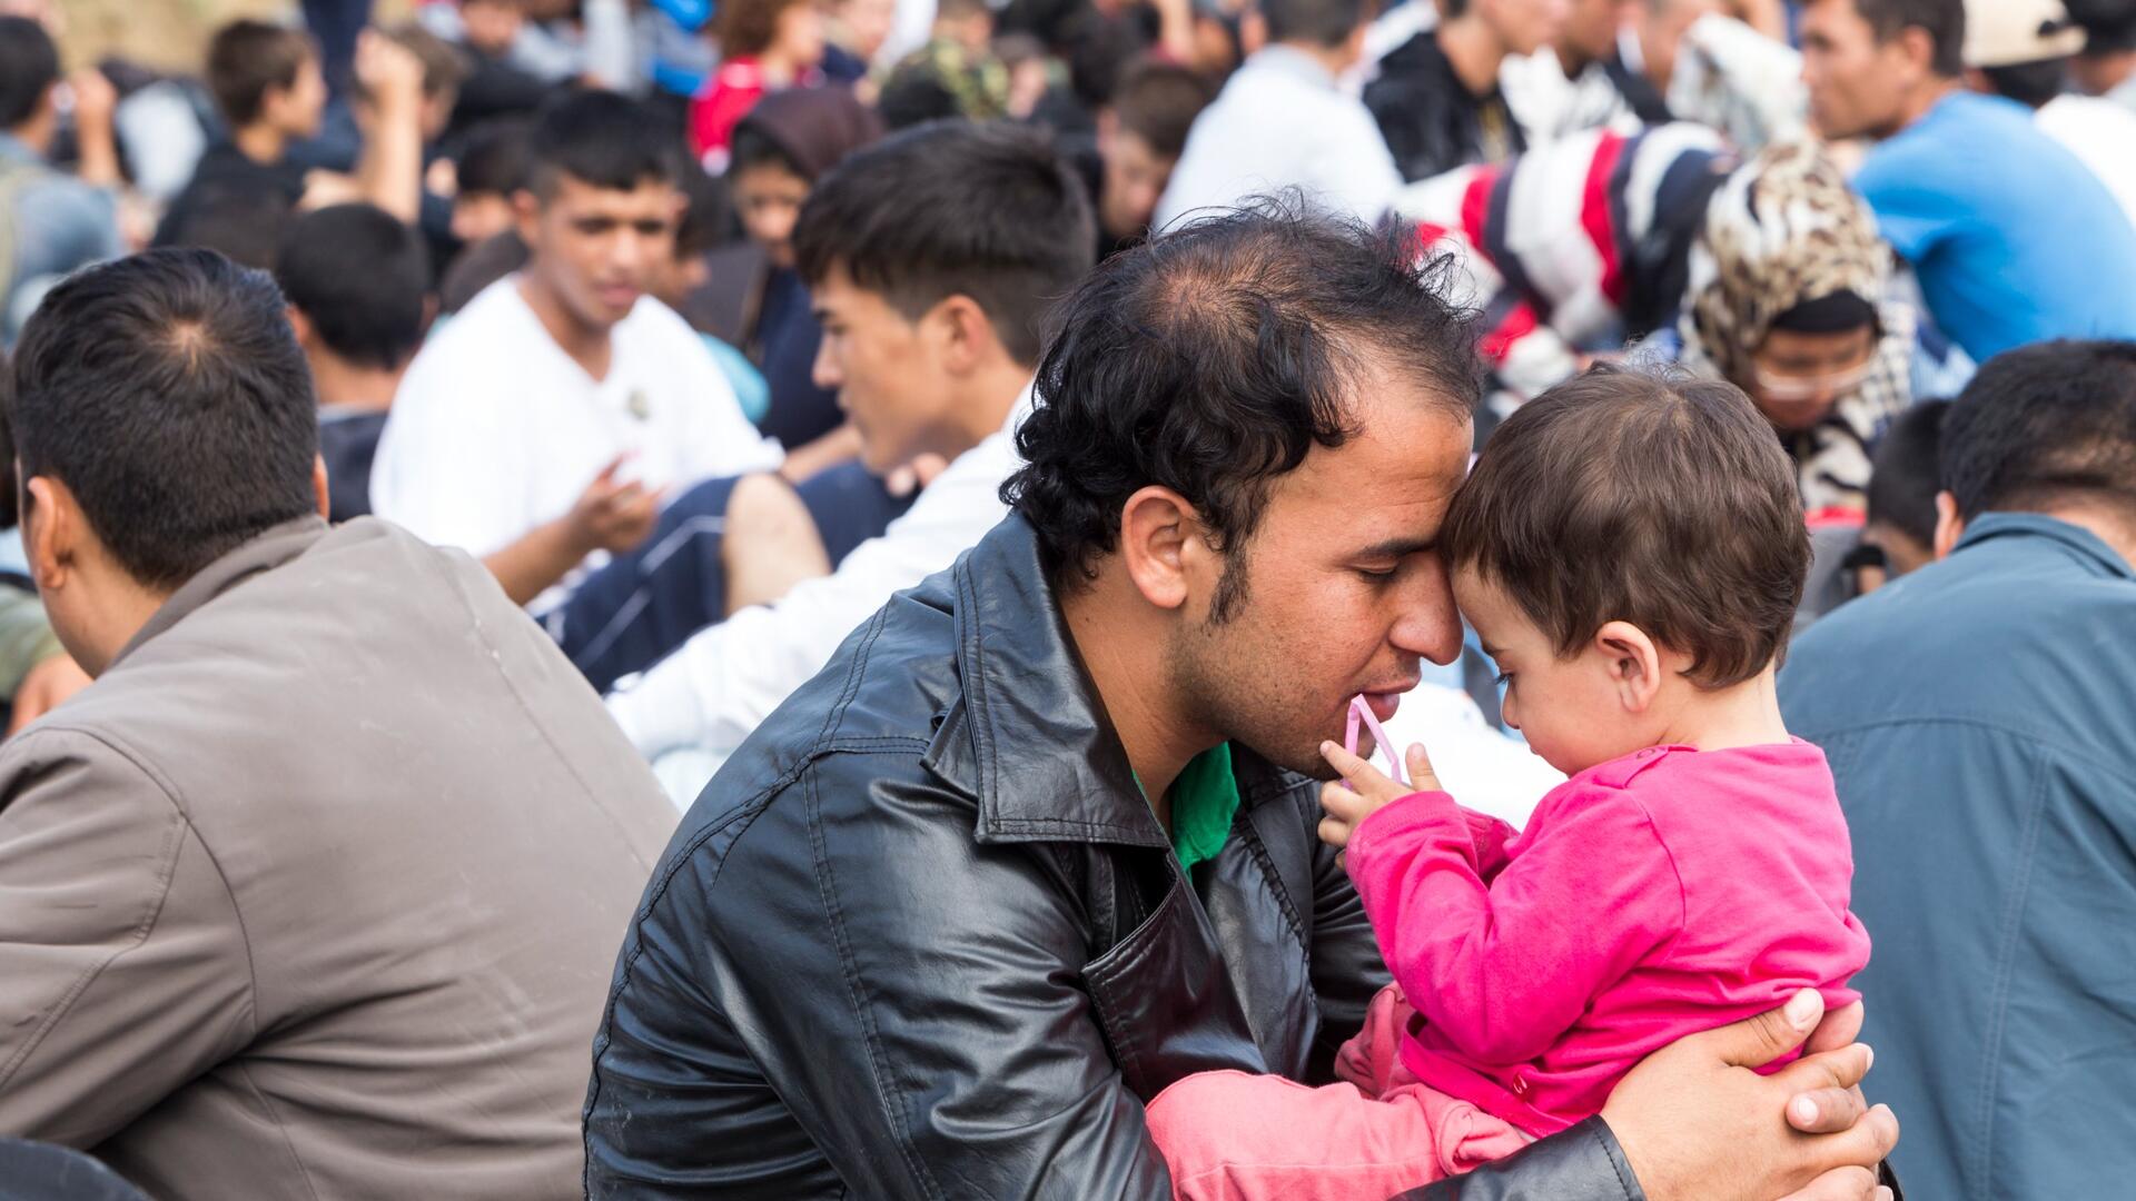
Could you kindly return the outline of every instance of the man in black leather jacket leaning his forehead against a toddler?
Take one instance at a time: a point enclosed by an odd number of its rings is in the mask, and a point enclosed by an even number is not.
[[[1431,539],[1470,342],[1399,235],[1286,212],[1085,282],[1015,513],[684,818],[594,1043],[587,1192],[1162,1199],[1168,1083],[1329,1081],[1386,972],[1305,771],[1352,695],[1386,712],[1459,650]],[[1448,1188],[1869,1197],[1897,1124],[1850,1092],[1865,1049],[1728,1066],[1816,1017],[1685,1039]]]

